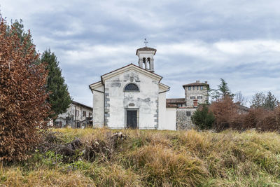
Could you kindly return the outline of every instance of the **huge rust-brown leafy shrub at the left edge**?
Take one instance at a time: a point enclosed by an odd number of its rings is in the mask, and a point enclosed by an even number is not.
[[[27,48],[0,15],[0,161],[25,160],[45,127],[46,72],[34,46]]]

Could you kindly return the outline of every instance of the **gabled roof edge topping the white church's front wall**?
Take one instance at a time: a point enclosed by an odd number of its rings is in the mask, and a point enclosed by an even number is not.
[[[104,80],[108,79],[108,78],[111,78],[113,76],[116,76],[118,74],[122,74],[123,72],[125,71],[129,71],[131,69],[134,69],[135,71],[139,71],[140,73],[142,74],[145,74],[146,76],[150,76],[151,78],[155,78],[156,80],[158,80],[160,82],[160,80],[162,80],[162,76],[158,75],[158,74],[155,74],[151,71],[148,71],[146,69],[143,69],[141,67],[138,67],[134,64],[128,64],[127,66],[125,67],[121,67],[119,69],[116,69],[114,71],[111,71],[107,74],[104,74],[101,76],[101,80],[102,80],[102,83],[104,83]]]

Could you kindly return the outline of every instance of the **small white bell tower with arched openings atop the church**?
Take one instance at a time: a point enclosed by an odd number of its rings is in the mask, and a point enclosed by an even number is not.
[[[154,72],[154,61],[153,61],[153,56],[157,52],[156,49],[154,48],[139,48],[136,51],[136,55],[139,57],[139,67],[146,69],[148,71]]]

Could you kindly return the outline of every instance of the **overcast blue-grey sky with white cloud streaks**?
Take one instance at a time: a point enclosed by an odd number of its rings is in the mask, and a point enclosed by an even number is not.
[[[137,48],[156,48],[155,73],[184,97],[183,84],[224,78],[247,99],[280,99],[280,1],[1,0],[6,20],[22,19],[36,49],[50,48],[76,102],[92,106],[88,85],[127,64]]]

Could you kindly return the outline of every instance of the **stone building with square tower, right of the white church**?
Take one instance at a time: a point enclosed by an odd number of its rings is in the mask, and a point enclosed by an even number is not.
[[[186,130],[193,127],[190,117],[199,104],[209,102],[209,84],[207,81],[183,85],[185,98],[167,99],[167,108],[176,110],[176,130]]]

